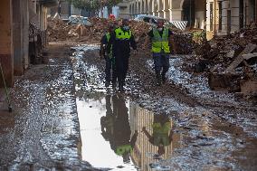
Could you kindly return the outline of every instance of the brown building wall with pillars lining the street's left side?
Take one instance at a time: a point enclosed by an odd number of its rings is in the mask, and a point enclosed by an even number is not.
[[[38,30],[45,33],[46,9],[52,5],[57,5],[57,0],[0,2],[0,62],[7,86],[12,87],[14,75],[23,75],[29,66],[30,23],[34,23]],[[2,86],[3,78],[0,76],[0,87]]]

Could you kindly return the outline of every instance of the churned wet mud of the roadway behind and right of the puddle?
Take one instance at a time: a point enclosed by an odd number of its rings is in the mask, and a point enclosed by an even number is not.
[[[97,83],[88,86],[97,91],[104,87],[105,62],[100,59],[97,46],[90,46],[77,46],[72,51],[75,51],[74,56],[81,56],[81,68],[87,68],[83,75],[92,78],[97,75]],[[183,61],[189,57],[171,57],[169,81],[161,87],[156,86],[150,53],[132,52],[129,59],[125,94],[143,109],[155,114],[166,113],[174,121],[175,132],[183,135],[179,142],[182,147],[175,149],[172,157],[152,167],[255,170],[256,105],[252,101],[236,100],[232,93],[212,91],[205,75],[183,71]]]

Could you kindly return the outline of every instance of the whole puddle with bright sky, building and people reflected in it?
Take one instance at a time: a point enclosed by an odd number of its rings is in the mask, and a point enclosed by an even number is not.
[[[106,95],[100,100],[77,100],[82,159],[95,167],[151,170],[167,159],[179,139],[167,115],[154,115],[126,100]],[[157,167],[156,167],[157,169]]]

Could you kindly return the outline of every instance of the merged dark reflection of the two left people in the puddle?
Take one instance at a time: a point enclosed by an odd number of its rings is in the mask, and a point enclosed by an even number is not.
[[[129,126],[129,114],[125,100],[120,95],[112,96],[113,109],[111,109],[110,96],[106,97],[106,116],[100,119],[102,136],[109,140],[111,149],[124,162],[129,161],[129,154],[135,146],[138,131],[135,131],[132,138]]]

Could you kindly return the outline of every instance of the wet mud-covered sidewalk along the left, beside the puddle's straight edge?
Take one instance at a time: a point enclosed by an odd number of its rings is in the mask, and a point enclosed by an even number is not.
[[[13,112],[0,107],[0,170],[88,170],[81,162],[70,48],[52,45],[48,64],[15,81]],[[92,169],[90,169],[92,170]]]

